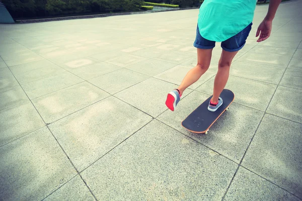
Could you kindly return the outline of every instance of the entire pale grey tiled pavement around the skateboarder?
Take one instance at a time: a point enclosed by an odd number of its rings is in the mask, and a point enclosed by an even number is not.
[[[257,6],[226,88],[197,135],[181,121],[212,92],[196,65],[198,10],[0,25],[0,200],[301,200],[302,8],[282,3],[256,42]]]

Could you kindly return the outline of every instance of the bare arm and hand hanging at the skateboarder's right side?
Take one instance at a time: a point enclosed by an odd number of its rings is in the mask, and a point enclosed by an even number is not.
[[[264,41],[270,36],[270,33],[272,31],[273,19],[275,17],[275,14],[277,12],[280,3],[281,0],[270,0],[268,12],[264,20],[260,23],[256,33],[256,37],[260,35],[257,42]]]

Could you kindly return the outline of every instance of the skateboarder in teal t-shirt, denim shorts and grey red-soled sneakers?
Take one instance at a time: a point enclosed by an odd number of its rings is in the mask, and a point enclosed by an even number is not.
[[[258,27],[257,42],[266,40],[281,0],[270,0],[266,17]],[[174,111],[184,90],[196,82],[210,66],[215,42],[221,42],[222,53],[214,80],[213,97],[208,110],[215,112],[223,100],[219,97],[229,78],[233,58],[243,48],[252,28],[255,0],[205,0],[199,9],[196,39],[197,65],[184,77],[177,89],[168,93],[166,105]]]

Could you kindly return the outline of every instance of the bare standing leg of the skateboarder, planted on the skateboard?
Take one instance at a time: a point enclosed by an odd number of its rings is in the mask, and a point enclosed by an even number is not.
[[[214,81],[214,91],[213,91],[213,97],[211,99],[212,103],[218,103],[218,98],[222,90],[224,89],[226,82],[228,82],[229,79],[229,73],[230,73],[230,66],[232,63],[233,58],[238,53],[236,52],[227,52],[222,50],[219,63],[218,63],[218,71],[215,76]]]

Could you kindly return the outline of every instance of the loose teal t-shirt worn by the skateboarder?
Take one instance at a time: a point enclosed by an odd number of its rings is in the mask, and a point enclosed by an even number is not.
[[[256,0],[205,0],[198,16],[200,35],[221,42],[246,28],[254,18]]]

